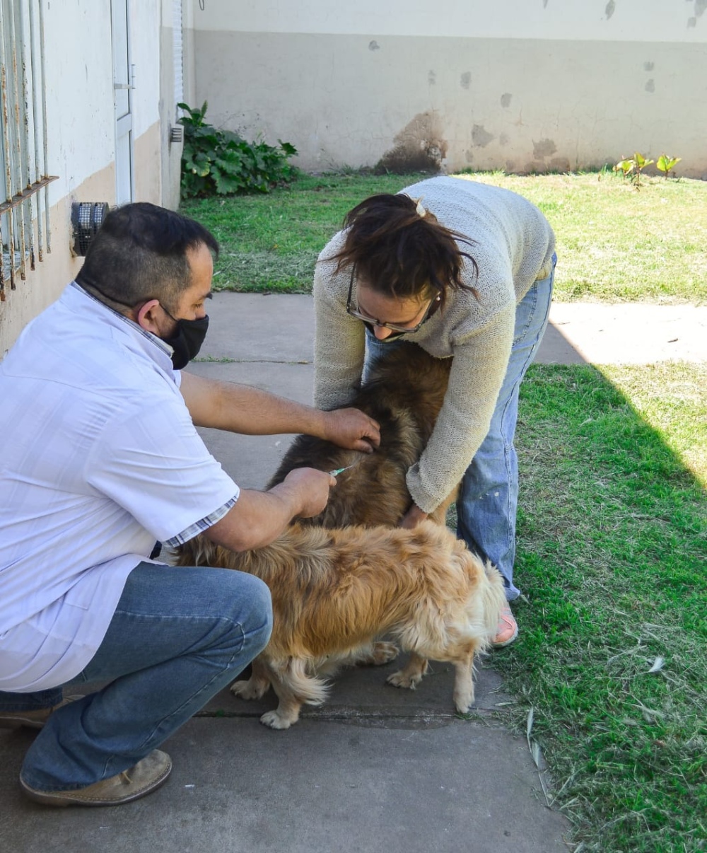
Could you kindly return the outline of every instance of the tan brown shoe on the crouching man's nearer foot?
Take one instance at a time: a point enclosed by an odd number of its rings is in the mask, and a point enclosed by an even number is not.
[[[159,788],[171,773],[171,758],[155,749],[129,770],[75,791],[36,791],[22,780],[26,796],[43,805],[121,805]]]

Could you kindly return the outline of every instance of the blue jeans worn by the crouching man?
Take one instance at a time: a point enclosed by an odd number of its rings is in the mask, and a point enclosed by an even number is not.
[[[22,779],[70,791],[132,767],[244,670],[271,630],[269,589],[258,577],[141,563],[95,657],[70,682],[109,683],[49,717]],[[0,710],[60,701],[61,688],[0,693]]]

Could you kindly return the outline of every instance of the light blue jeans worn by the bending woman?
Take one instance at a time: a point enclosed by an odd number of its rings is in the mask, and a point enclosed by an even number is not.
[[[516,308],[513,347],[490,430],[464,473],[456,502],[456,535],[498,568],[508,601],[520,595],[513,584],[518,512],[518,456],[513,438],[519,389],[548,326],[553,281],[554,266],[550,276],[536,281]],[[384,355],[391,346],[395,343],[381,344],[367,332],[367,361]]]

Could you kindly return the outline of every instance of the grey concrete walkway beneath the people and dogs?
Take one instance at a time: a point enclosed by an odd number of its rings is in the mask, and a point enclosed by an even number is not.
[[[218,293],[190,369],[303,402],[312,386],[308,296]],[[707,360],[707,309],[553,305],[540,360]],[[203,431],[236,482],[262,488],[288,438]],[[520,625],[523,630],[523,625]],[[513,654],[513,647],[502,652]],[[7,853],[560,853],[569,825],[549,809],[523,738],[503,728],[513,701],[478,673],[472,720],[455,717],[453,674],[432,664],[414,693],[385,685],[396,664],[348,670],[331,698],[274,732],[227,691],[165,745],[168,783],[119,809],[46,809],[20,795],[33,734],[0,730],[0,850]]]

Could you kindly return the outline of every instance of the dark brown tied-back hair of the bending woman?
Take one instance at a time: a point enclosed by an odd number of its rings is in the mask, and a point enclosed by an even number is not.
[[[344,219],[344,247],[327,260],[338,261],[336,271],[351,266],[377,293],[397,299],[428,299],[448,290],[476,290],[461,280],[465,261],[478,265],[458,243],[471,247],[468,237],[444,228],[405,194],[372,195]]]

